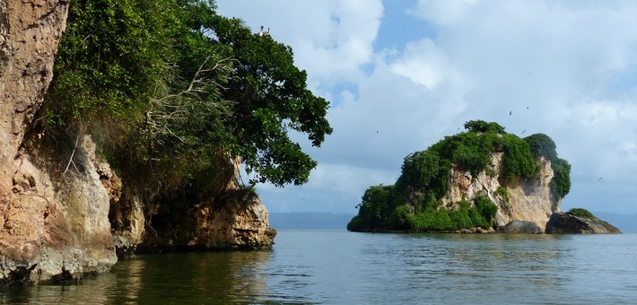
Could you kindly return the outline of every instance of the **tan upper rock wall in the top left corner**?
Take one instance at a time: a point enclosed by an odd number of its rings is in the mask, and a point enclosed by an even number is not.
[[[65,0],[0,0],[0,190],[3,192],[12,188],[13,160],[53,77],[67,10]]]

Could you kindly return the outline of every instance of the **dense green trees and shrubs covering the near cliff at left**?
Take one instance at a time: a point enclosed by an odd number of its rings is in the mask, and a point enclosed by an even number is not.
[[[215,10],[72,1],[39,132],[73,143],[87,131],[111,167],[155,194],[209,184],[228,154],[251,183],[305,183],[316,161],[289,133],[319,146],[332,132],[328,101],[307,89],[292,48]]]

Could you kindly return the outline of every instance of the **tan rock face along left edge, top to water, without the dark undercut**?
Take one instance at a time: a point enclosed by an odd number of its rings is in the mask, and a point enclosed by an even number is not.
[[[117,257],[90,137],[29,135],[52,79],[68,2],[0,0],[0,283],[57,283]],[[68,141],[66,141],[68,140]],[[73,153],[72,153],[73,152]],[[63,164],[68,162],[68,170]]]

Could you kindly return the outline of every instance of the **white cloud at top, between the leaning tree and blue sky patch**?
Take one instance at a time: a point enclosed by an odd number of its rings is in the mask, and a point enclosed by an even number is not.
[[[252,29],[265,25],[294,51],[295,64],[310,71],[313,89],[355,83],[373,57],[380,0],[218,1],[219,13],[240,16]]]

